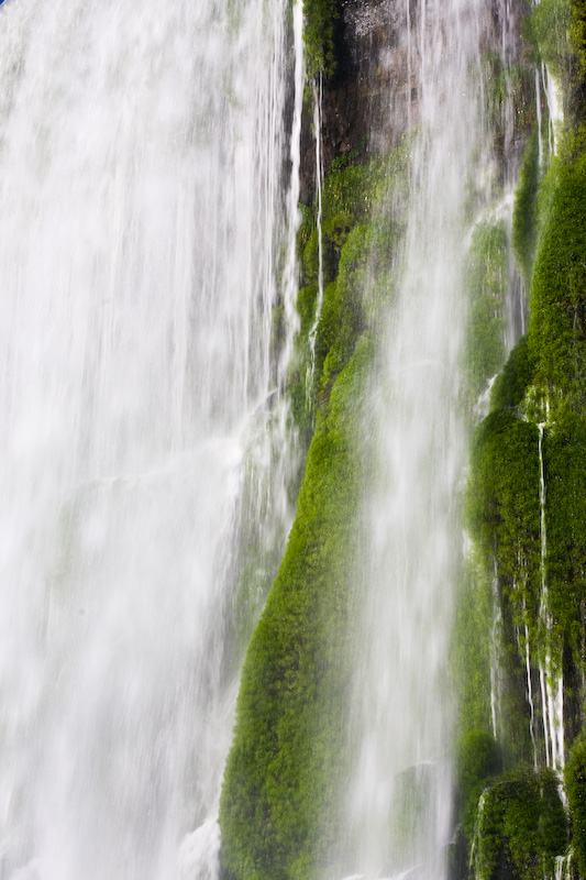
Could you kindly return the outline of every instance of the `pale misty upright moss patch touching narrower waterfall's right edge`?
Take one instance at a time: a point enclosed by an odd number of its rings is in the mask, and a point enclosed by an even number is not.
[[[508,278],[505,224],[479,223],[474,230],[467,267],[471,305],[464,363],[471,404],[505,360],[502,306]]]

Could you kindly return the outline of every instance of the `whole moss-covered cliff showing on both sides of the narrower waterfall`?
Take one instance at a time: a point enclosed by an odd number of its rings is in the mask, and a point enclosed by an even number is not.
[[[356,524],[369,458],[363,398],[402,231],[407,107],[417,112],[417,74],[406,76],[398,43],[382,62],[395,12],[378,0],[306,2],[325,165],[319,228],[308,89],[301,327],[289,375],[307,461],[242,675],[220,805],[226,880],[312,880],[331,867],[339,835]],[[454,877],[479,880],[553,877],[563,859],[586,877],[586,4],[542,0],[523,28],[510,68],[489,48],[483,59],[495,204],[513,170],[518,186],[511,230],[500,209],[472,226],[462,363],[471,469],[452,656],[452,867]],[[542,61],[564,95],[555,155],[545,101],[539,132],[531,91]],[[377,122],[389,95],[394,131]],[[474,205],[471,186],[471,223]],[[530,320],[507,359],[511,280],[524,283]]]

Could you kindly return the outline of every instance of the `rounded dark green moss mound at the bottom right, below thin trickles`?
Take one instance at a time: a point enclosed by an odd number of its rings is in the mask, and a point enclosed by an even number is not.
[[[477,880],[542,880],[567,846],[567,821],[551,770],[501,777],[478,805]]]

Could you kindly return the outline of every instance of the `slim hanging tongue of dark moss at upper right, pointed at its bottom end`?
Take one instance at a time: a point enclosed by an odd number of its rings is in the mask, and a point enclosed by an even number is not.
[[[534,129],[521,162],[512,211],[512,249],[528,285],[538,240],[539,138]]]

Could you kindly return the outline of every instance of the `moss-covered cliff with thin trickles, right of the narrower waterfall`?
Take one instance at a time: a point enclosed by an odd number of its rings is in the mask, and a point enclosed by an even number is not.
[[[586,876],[585,23],[586,7],[570,0],[543,0],[526,21],[533,58],[562,87],[565,123],[555,155],[537,131],[527,142],[512,249],[528,332],[472,440],[455,870],[480,880],[553,877],[555,859]],[[485,361],[478,381],[489,378]]]

